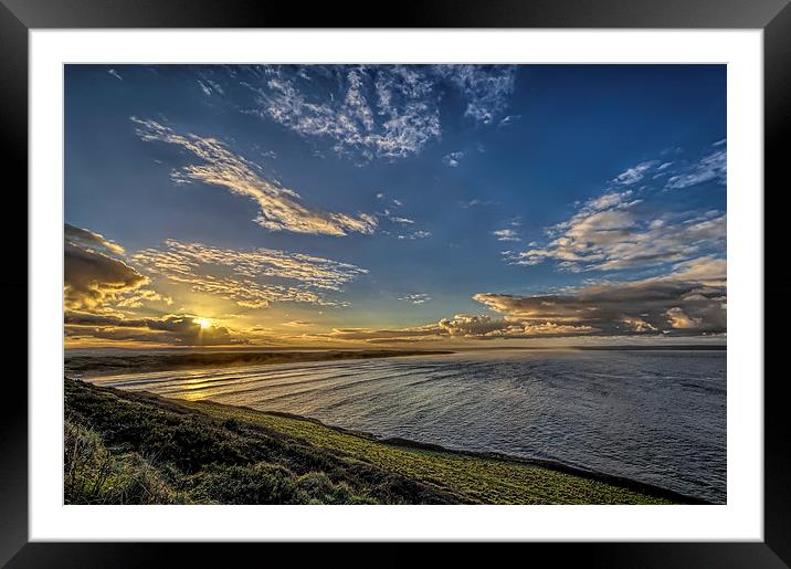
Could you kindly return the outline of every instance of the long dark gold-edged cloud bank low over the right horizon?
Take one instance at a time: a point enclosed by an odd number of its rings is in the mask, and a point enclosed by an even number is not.
[[[726,262],[710,256],[678,263],[663,277],[592,284],[536,296],[479,293],[473,299],[500,316],[457,314],[420,327],[342,328],[326,337],[387,344],[727,331]]]

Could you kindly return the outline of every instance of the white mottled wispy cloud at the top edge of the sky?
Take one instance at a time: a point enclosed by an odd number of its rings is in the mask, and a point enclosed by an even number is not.
[[[256,65],[233,74],[253,93],[245,112],[330,140],[340,155],[394,160],[441,138],[440,101],[449,89],[461,94],[464,115],[476,123],[498,118],[516,66]]]

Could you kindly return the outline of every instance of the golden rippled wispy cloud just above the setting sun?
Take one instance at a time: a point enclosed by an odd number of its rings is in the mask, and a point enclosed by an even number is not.
[[[162,247],[146,249],[131,261],[148,273],[192,291],[260,308],[273,302],[340,304],[325,292],[340,292],[368,271],[348,263],[271,249],[238,251],[202,243],[167,240]],[[295,284],[281,284],[291,281]]]

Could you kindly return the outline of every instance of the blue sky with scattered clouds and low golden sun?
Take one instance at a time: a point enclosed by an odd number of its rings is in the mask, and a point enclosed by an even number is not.
[[[67,347],[725,341],[724,65],[66,65]]]

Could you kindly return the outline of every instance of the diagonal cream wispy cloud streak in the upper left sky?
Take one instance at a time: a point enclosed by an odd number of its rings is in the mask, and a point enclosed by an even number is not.
[[[257,165],[233,154],[215,138],[181,135],[155,120],[136,117],[131,120],[140,139],[176,145],[202,160],[173,171],[176,181],[200,181],[252,199],[260,208],[254,221],[265,229],[340,236],[350,232],[372,233],[377,226],[376,218],[366,213],[354,217],[303,206],[296,191],[265,179]]]

